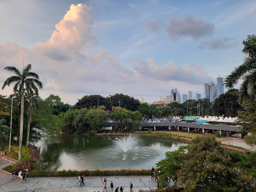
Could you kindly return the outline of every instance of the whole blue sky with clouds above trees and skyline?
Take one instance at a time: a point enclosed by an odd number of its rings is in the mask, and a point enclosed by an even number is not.
[[[123,93],[151,103],[175,87],[181,99],[204,98],[204,83],[242,64],[255,18],[254,0],[1,1],[0,87],[13,75],[4,68],[22,71],[24,58],[43,99]]]

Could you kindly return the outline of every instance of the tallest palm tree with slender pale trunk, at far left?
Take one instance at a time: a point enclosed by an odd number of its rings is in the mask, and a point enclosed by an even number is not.
[[[31,64],[25,66],[22,70],[22,73],[16,67],[5,67],[5,70],[9,72],[15,73],[15,75],[6,79],[3,84],[2,90],[7,85],[8,87],[10,84],[14,84],[14,93],[21,92],[21,113],[20,113],[20,140],[19,140],[19,157],[18,160],[21,159],[21,147],[22,147],[22,134],[23,134],[23,113],[24,113],[24,89],[28,93],[35,93],[38,94],[37,86],[42,89],[43,83],[39,81],[39,77],[37,73],[30,72]]]

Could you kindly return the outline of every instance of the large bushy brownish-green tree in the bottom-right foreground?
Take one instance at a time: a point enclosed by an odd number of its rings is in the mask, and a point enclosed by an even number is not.
[[[177,185],[184,192],[254,191],[255,184],[210,134],[192,139],[177,171]]]

